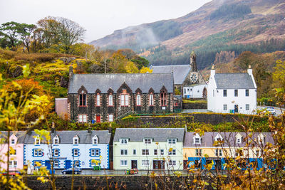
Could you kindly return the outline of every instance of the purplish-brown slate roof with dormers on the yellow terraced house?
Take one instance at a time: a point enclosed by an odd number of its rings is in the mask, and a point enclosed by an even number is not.
[[[204,132],[204,135],[202,136],[202,142],[201,144],[194,144],[193,137],[195,137],[195,132],[186,132],[185,134],[185,141],[184,141],[184,147],[214,147],[214,137],[217,136],[217,134],[221,134],[221,136],[224,139],[224,147],[244,147],[246,142],[242,142],[240,144],[237,144],[236,141],[236,135],[241,134],[243,139],[246,139],[246,133],[244,132]],[[254,132],[252,137],[249,137],[249,139],[252,139],[254,142],[258,143],[258,136],[259,132]],[[262,134],[265,136],[265,142],[269,142],[271,144],[274,144],[274,139],[270,132],[262,132]]]

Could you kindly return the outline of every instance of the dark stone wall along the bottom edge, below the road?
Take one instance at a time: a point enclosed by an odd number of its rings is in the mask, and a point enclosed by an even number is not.
[[[51,189],[49,182],[42,184],[38,176],[27,176],[31,189]],[[71,189],[72,176],[56,176],[56,189]],[[108,182],[107,182],[108,180]],[[74,176],[73,189],[188,189],[191,176]],[[209,186],[206,189],[212,189]]]

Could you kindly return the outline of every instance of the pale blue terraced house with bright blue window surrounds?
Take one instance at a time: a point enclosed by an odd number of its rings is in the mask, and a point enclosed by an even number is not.
[[[109,169],[109,144],[111,134],[107,130],[51,131],[51,144],[41,142],[38,134],[28,132],[24,137],[24,164],[37,167],[37,162],[47,169],[80,167],[92,169],[100,165]]]

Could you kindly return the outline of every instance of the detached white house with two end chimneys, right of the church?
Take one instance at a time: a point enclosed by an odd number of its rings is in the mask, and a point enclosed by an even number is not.
[[[252,68],[247,73],[215,73],[211,70],[207,89],[208,110],[252,114],[257,108],[257,85]]]

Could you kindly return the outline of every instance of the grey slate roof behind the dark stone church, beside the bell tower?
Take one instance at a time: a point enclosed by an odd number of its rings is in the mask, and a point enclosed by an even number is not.
[[[182,85],[188,73],[190,65],[153,65],[152,73],[172,73],[175,85]]]

